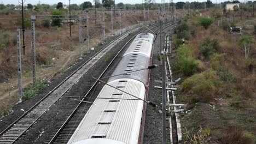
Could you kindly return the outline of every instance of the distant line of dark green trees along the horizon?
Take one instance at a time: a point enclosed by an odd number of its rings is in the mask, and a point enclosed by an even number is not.
[[[226,6],[227,3],[240,3],[239,1],[225,1],[220,3],[222,5],[222,8]],[[255,4],[256,1],[248,1],[249,7],[252,7],[253,3]],[[115,4],[115,7],[117,9],[159,9],[161,6],[160,3],[155,3],[155,0],[144,0],[143,3],[139,4],[124,4],[124,3],[117,3]],[[212,1],[207,0],[206,2],[177,2],[177,3],[165,3],[164,4],[165,9],[171,9],[172,6],[175,6],[176,9],[203,9],[203,8],[213,8],[213,7],[219,7],[219,5],[213,4]],[[59,2],[57,4],[49,5],[49,4],[36,4],[32,5],[28,3],[24,6],[27,10],[36,10],[36,11],[52,11],[55,9],[68,9],[69,5],[65,5],[62,2]],[[82,4],[71,4],[72,10],[84,10],[88,8],[113,8],[114,7],[114,0],[94,0],[93,3],[86,1]],[[0,4],[0,10],[3,9],[11,9],[11,10],[20,10],[21,5],[14,5],[14,4]]]

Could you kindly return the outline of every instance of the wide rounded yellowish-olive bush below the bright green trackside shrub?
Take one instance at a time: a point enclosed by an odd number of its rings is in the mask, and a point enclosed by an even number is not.
[[[182,82],[184,93],[191,94],[190,103],[198,101],[208,102],[215,98],[219,91],[221,81],[214,70],[207,70],[195,74]]]

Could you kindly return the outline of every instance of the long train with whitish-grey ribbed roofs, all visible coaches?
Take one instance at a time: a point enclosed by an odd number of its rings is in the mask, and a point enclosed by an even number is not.
[[[146,98],[149,70],[140,69],[151,64],[153,43],[151,33],[136,36],[68,143],[140,143],[144,102],[130,94]]]

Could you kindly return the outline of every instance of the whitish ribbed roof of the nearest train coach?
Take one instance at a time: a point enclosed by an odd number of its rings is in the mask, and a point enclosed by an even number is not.
[[[108,84],[144,99],[146,89],[142,82],[119,79]],[[118,141],[116,144],[138,143],[143,101],[108,85],[97,98],[112,99],[96,99],[68,143],[98,143],[106,139]]]

